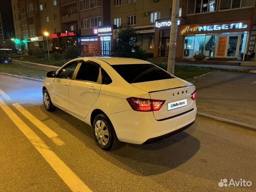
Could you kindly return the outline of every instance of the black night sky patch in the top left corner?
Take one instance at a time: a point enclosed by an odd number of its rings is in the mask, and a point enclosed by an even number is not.
[[[14,31],[11,0],[0,0],[0,11],[2,17],[2,26],[4,30],[4,37],[7,39],[6,33]]]

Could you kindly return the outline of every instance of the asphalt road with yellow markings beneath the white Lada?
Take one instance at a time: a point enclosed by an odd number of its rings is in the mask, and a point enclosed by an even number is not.
[[[255,132],[197,118],[192,127],[157,143],[123,144],[106,152],[96,145],[90,126],[61,110],[44,109],[41,85],[0,75],[5,93],[0,95],[0,191],[66,192],[75,181],[94,192],[256,191]],[[13,103],[62,143],[44,134]],[[252,186],[219,187],[224,178],[242,178]]]

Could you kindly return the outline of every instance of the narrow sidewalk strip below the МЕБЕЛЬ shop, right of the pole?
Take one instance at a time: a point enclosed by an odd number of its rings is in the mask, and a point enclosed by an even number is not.
[[[175,65],[180,66],[197,66],[197,67],[211,67],[219,69],[252,69],[256,70],[256,66],[240,66],[240,65],[208,65],[208,64],[190,64],[190,63],[175,63]]]

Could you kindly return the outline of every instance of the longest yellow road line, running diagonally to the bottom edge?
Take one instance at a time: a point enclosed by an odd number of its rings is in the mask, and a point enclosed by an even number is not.
[[[0,99],[0,107],[74,192],[91,192],[75,173]]]

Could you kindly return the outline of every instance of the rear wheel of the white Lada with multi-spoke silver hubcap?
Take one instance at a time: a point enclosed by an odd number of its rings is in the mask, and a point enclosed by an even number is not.
[[[118,147],[120,141],[118,140],[114,127],[106,114],[101,113],[95,117],[93,129],[96,143],[100,148],[109,151]]]

